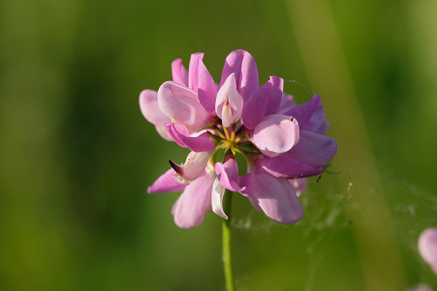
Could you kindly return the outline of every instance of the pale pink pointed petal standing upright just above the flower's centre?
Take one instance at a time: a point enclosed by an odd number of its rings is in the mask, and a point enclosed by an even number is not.
[[[242,110],[243,98],[236,88],[235,73],[232,73],[218,90],[215,112],[222,119],[222,125],[229,127],[240,119]]]

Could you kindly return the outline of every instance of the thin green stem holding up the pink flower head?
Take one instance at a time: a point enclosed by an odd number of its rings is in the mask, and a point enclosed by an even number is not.
[[[234,278],[232,276],[232,252],[231,252],[231,202],[232,191],[226,190],[225,213],[228,219],[222,222],[222,248],[223,270],[225,271],[225,283],[227,291],[235,291]]]

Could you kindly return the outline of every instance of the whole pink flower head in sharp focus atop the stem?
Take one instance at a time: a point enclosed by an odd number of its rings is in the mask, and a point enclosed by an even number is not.
[[[305,178],[323,173],[337,151],[336,141],[325,135],[321,98],[313,94],[296,105],[277,76],[260,86],[255,60],[241,49],[226,57],[217,85],[203,57],[192,54],[188,69],[176,59],[173,80],[139,96],[141,112],[156,131],[191,150],[184,164],[170,160],[171,168],[148,193],[182,191],[171,211],[181,228],[201,224],[211,210],[228,219],[222,208],[225,189],[248,197],[274,222],[298,222]],[[221,149],[225,159],[217,162],[215,153]],[[237,153],[247,161],[243,176],[238,175]]]

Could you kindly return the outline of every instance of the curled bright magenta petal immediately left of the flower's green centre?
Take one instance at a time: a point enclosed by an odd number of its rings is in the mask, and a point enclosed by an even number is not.
[[[193,152],[209,152],[214,149],[214,142],[209,139],[209,132],[191,137],[188,128],[183,124],[166,123],[164,126],[174,141],[184,148],[189,148]]]

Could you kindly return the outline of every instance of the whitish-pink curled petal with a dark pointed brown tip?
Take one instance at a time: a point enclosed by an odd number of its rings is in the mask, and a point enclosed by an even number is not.
[[[178,165],[169,160],[170,166],[175,171],[173,178],[180,184],[188,185],[190,181],[197,179],[204,171],[208,164],[211,152],[190,152],[184,165]]]

